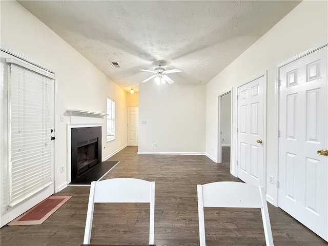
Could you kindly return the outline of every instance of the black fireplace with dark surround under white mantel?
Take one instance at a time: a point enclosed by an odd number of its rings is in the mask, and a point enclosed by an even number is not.
[[[101,162],[101,127],[71,129],[71,180]]]

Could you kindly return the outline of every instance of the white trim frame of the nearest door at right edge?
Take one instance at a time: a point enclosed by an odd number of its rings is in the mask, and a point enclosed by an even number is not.
[[[276,207],[279,207],[279,189],[278,189],[278,186],[279,186],[279,136],[278,136],[278,131],[279,131],[279,116],[280,116],[280,112],[279,112],[279,105],[280,105],[280,94],[279,94],[279,77],[280,77],[280,73],[279,73],[279,70],[281,67],[285,66],[285,65],[288,65],[290,63],[292,63],[293,61],[297,60],[297,59],[300,59],[302,58],[303,56],[306,56],[310,53],[313,53],[325,46],[327,46],[328,43],[327,42],[324,42],[324,43],[321,43],[317,46],[314,46],[313,48],[311,49],[308,49],[306,51],[303,51],[297,55],[294,55],[284,61],[282,61],[281,63],[277,64],[276,65],[276,73],[275,73],[275,91],[274,91],[274,100],[275,100],[275,114],[276,114],[276,124],[275,124],[275,131],[276,131],[276,140],[275,140],[275,148],[277,150],[277,155],[276,155],[276,163],[277,163],[277,166],[276,166],[276,171],[275,171],[275,176],[277,177],[276,178],[276,185],[274,186],[274,197],[273,197],[273,201],[271,202],[274,206]],[[328,136],[327,136],[328,138]]]

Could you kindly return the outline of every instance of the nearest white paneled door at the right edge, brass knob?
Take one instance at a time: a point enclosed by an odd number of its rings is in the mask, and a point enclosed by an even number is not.
[[[327,47],[279,69],[278,206],[328,240]]]

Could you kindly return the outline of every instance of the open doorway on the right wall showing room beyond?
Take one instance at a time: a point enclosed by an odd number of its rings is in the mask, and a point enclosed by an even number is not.
[[[228,91],[218,98],[219,119],[218,119],[218,157],[217,162],[230,162],[231,159],[231,91]]]

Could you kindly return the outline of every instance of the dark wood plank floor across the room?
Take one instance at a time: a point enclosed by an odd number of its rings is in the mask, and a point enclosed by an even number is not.
[[[110,160],[120,163],[105,178],[155,181],[154,243],[157,246],[199,245],[196,185],[240,181],[230,175],[229,162],[216,164],[206,156],[136,153],[136,147],[127,147],[111,157]],[[229,158],[223,159],[229,161]],[[55,195],[73,197],[41,225],[3,227],[1,246],[80,245],[89,188],[68,187]],[[269,213],[275,245],[327,245],[281,209],[269,204]],[[147,244],[148,220],[146,204],[96,204],[91,242]],[[205,224],[209,246],[265,245],[258,209],[206,209]]]

